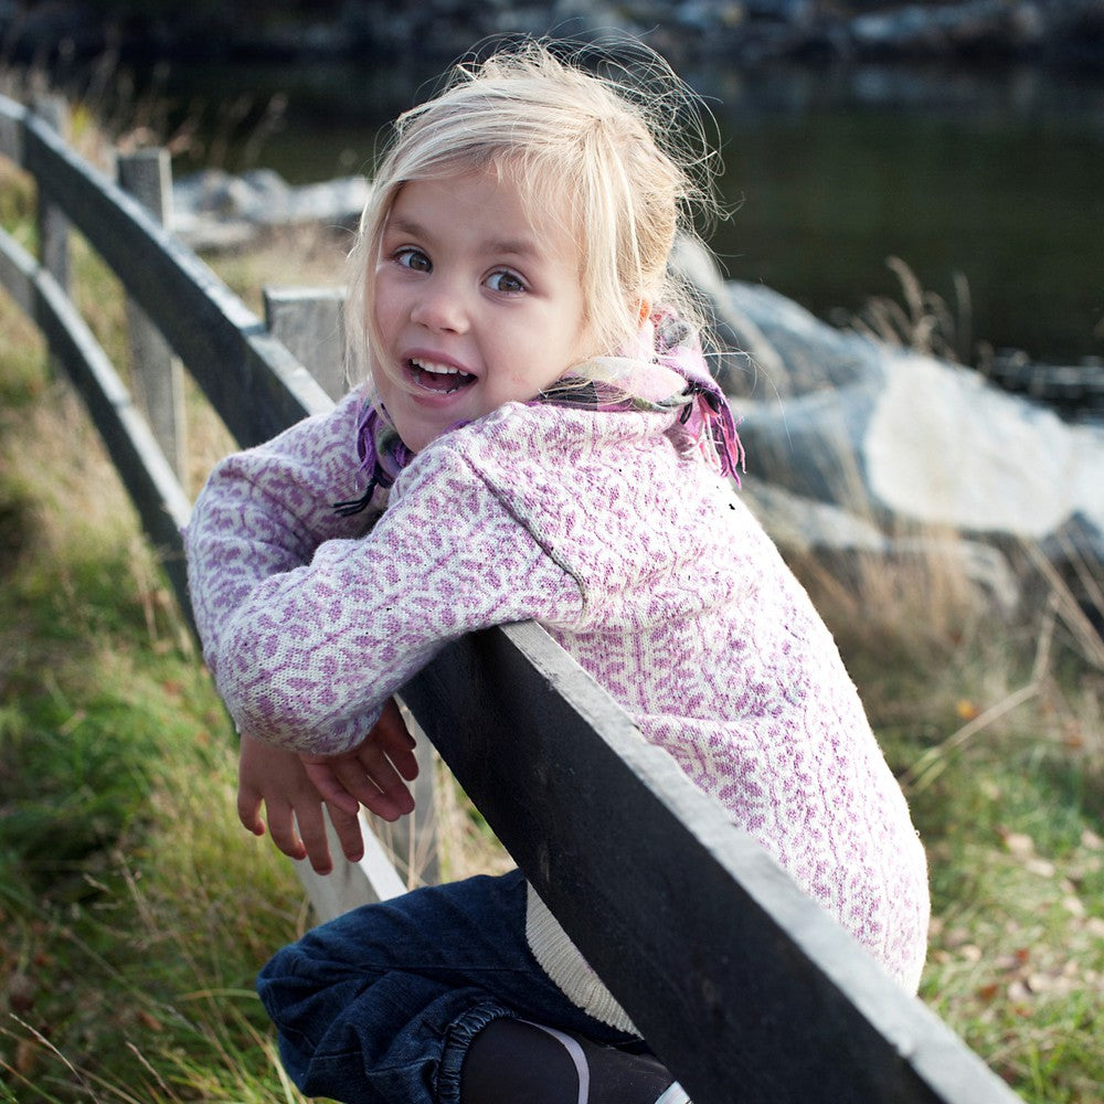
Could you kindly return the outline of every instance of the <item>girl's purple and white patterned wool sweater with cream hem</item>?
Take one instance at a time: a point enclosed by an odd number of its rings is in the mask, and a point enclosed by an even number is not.
[[[905,800],[831,636],[678,413],[507,404],[349,518],[361,403],[223,460],[197,502],[195,618],[240,729],[348,749],[445,643],[535,619],[914,991],[928,899]],[[627,1022],[532,895],[529,935]]]

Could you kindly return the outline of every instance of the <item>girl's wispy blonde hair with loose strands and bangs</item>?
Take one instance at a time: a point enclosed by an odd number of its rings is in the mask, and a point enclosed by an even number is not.
[[[716,212],[716,153],[700,100],[652,50],[524,39],[458,63],[432,99],[395,120],[349,255],[349,373],[369,375],[380,242],[404,183],[474,169],[508,174],[530,210],[559,210],[580,243],[592,354],[628,346],[641,305],[676,307],[699,330],[692,291],[670,270],[678,234]],[[382,363],[382,361],[381,361]]]

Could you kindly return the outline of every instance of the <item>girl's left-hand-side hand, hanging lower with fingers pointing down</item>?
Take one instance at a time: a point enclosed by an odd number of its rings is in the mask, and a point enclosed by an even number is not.
[[[242,735],[237,774],[237,816],[255,836],[265,834],[261,817],[264,803],[273,842],[291,859],[310,859],[320,874],[333,869],[322,799],[299,756],[283,747],[273,747],[253,736]],[[355,810],[329,809],[341,851],[350,862],[364,853],[360,820]]]

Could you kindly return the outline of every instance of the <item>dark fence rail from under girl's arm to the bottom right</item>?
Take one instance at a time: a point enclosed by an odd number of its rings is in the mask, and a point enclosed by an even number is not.
[[[403,697],[694,1104],[1016,1100],[535,625]]]

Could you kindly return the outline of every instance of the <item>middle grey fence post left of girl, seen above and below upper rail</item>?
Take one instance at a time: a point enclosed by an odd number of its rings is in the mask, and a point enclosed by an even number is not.
[[[172,166],[168,151],[140,149],[118,158],[119,187],[135,197],[167,230],[172,229]],[[127,329],[135,399],[177,478],[187,484],[188,428],[184,372],[161,331],[132,299],[127,299]]]

